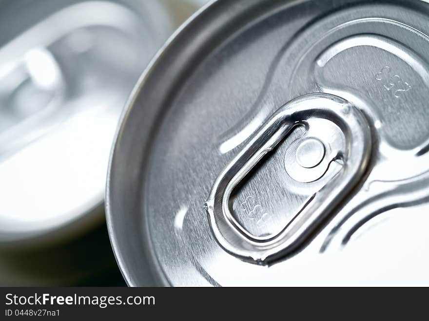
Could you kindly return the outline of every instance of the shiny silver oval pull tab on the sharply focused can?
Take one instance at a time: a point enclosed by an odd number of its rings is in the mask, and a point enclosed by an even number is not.
[[[278,234],[269,238],[256,237],[232,215],[229,208],[231,194],[269,151],[296,126],[312,118],[327,119],[343,132],[345,150],[336,156],[342,161],[342,169],[309,198]],[[205,208],[217,242],[232,255],[257,264],[269,264],[289,254],[302,244],[359,182],[370,159],[370,145],[370,127],[366,118],[343,98],[331,94],[308,94],[288,102],[254,133],[243,150],[215,180]],[[317,139],[308,140],[300,148],[316,155],[310,161],[304,157],[298,159],[303,168],[314,168],[320,161],[318,158],[323,157],[323,145]]]

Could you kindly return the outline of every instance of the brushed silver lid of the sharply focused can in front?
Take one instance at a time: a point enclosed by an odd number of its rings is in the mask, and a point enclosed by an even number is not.
[[[146,71],[111,158],[127,282],[417,280],[404,272],[428,267],[415,246],[428,239],[384,238],[428,201],[428,15],[421,0],[218,0],[189,21]]]

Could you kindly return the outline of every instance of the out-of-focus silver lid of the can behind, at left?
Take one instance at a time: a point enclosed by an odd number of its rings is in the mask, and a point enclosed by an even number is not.
[[[26,11],[9,9],[1,12],[26,23]],[[10,38],[0,48],[1,245],[102,219],[117,120],[173,28],[156,1],[33,1],[26,9],[39,18],[34,25],[18,36],[2,29]]]

